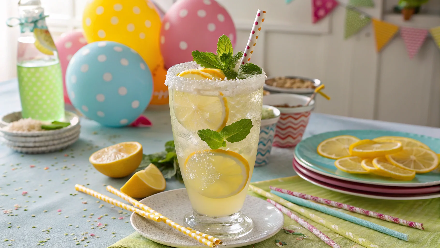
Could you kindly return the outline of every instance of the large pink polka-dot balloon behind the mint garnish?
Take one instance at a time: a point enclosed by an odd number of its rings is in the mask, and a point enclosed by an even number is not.
[[[193,60],[191,52],[216,52],[218,38],[227,35],[235,47],[235,26],[226,9],[215,0],[180,0],[165,14],[161,52],[165,67]]]

